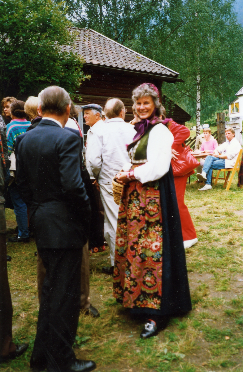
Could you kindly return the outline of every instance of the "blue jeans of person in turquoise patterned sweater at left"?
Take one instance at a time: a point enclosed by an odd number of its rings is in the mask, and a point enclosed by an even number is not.
[[[14,206],[14,213],[16,216],[16,222],[19,229],[18,236],[21,238],[27,238],[29,237],[27,206],[25,202],[23,202],[23,200],[21,199],[18,187],[14,181],[9,186],[9,193]]]

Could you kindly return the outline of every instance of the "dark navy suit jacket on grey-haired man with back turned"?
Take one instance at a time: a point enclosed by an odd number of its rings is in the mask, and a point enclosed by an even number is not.
[[[80,138],[42,119],[18,143],[16,158],[17,185],[30,208],[37,247],[81,248],[91,210],[80,171]]]

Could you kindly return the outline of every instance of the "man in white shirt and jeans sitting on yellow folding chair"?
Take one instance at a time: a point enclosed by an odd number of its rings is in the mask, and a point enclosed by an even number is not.
[[[235,138],[234,129],[226,128],[225,137],[226,142],[223,142],[213,151],[214,155],[208,155],[206,157],[202,173],[197,173],[197,178],[200,181],[205,181],[205,185],[199,189],[200,191],[210,190],[212,188],[210,183],[213,169],[233,168],[236,163],[241,146]]]

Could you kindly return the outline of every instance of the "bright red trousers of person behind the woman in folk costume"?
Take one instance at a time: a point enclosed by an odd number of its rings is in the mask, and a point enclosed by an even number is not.
[[[188,208],[184,203],[185,190],[187,186],[187,174],[182,177],[174,177],[175,192],[181,218],[183,240],[191,240],[197,237]]]

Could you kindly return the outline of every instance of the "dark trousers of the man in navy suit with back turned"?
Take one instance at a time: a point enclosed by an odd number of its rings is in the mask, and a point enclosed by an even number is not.
[[[38,253],[46,275],[30,365],[56,372],[75,360],[72,344],[80,312],[82,250],[38,248]]]

